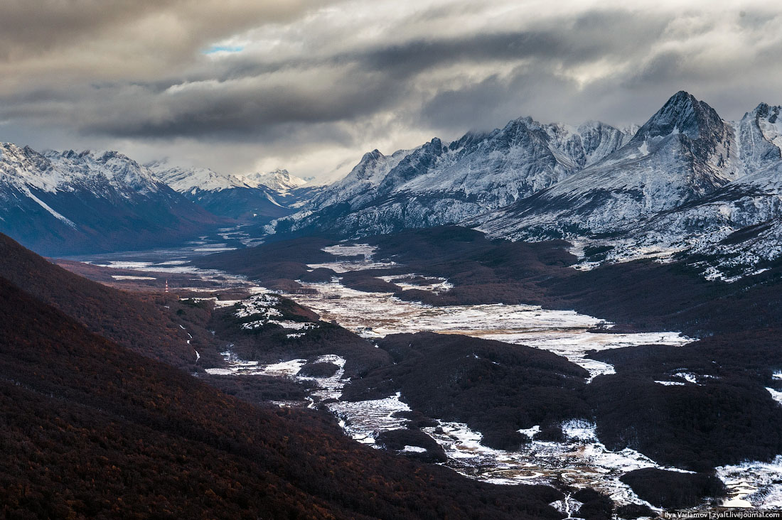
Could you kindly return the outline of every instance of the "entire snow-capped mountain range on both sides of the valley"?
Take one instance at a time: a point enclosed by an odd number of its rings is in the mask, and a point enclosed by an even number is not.
[[[579,268],[687,256],[730,280],[782,255],[780,110],[761,103],[726,121],[680,91],[640,127],[522,117],[450,143],[375,149],[325,187],[286,170],[220,174],[4,144],[0,231],[66,254],[144,249],[235,223],[336,238],[461,224],[511,240],[565,238]]]

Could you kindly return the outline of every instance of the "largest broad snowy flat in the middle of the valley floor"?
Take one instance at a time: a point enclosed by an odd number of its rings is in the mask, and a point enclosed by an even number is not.
[[[678,332],[612,334],[597,327],[604,321],[573,310],[545,310],[534,305],[455,305],[431,307],[407,302],[386,292],[361,292],[339,280],[304,284],[317,294],[296,301],[325,321],[376,339],[400,332],[462,334],[550,350],[590,372],[590,378],[613,374],[610,364],[587,358],[590,351],[647,344],[683,345],[693,339]]]

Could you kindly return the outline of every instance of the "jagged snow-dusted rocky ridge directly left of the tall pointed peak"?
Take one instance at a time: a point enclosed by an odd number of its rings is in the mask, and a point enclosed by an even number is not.
[[[607,124],[569,127],[526,117],[450,144],[434,138],[390,156],[374,150],[276,229],[354,236],[453,224],[554,185],[629,138]]]

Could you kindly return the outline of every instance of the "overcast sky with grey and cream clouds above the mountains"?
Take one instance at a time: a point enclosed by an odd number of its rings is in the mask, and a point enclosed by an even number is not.
[[[780,2],[2,0],[0,141],[327,178],[364,152],[782,104]]]

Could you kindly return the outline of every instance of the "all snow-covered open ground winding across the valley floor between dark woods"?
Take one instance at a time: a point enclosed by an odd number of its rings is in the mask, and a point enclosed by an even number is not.
[[[198,245],[197,248],[190,249],[216,250],[220,247]],[[400,299],[393,296],[394,292],[351,289],[343,284],[345,273],[366,270],[382,272],[384,268],[395,269],[397,274],[382,274],[377,278],[402,289],[424,290],[437,295],[448,292],[453,285],[447,278],[431,274],[398,274],[400,269],[404,271],[404,266],[393,261],[378,261],[375,258],[376,247],[368,244],[326,246],[323,251],[330,253],[333,260],[308,264],[308,269],[329,271],[334,276],[314,282],[298,280],[300,288],[295,294],[288,294],[286,297],[314,310],[321,319],[319,323],[338,324],[372,344],[379,342],[384,349],[388,348],[382,343],[386,336],[419,332],[499,340],[507,344],[504,347],[507,349],[515,348],[513,345],[526,345],[565,357],[585,370],[584,382],[590,386],[594,378],[616,373],[612,363],[594,356],[597,352],[644,345],[676,349],[694,341],[679,332],[664,330],[615,332],[612,331],[612,324],[572,310],[546,310],[536,305],[501,303],[432,306]],[[133,284],[133,276],[138,277],[139,283],[145,283],[149,278],[192,276],[191,281],[199,280],[200,283],[192,283],[191,287],[180,286],[176,290],[187,292],[187,299],[210,299],[218,310],[235,317],[260,317],[256,321],[245,321],[242,328],[246,330],[264,330],[271,325],[273,328],[282,328],[286,338],[294,341],[305,339],[314,329],[324,326],[286,321],[276,310],[274,296],[271,296],[269,301],[267,300],[270,296],[264,296],[271,292],[269,289],[242,276],[231,276],[221,271],[185,264],[192,253],[190,250],[168,250],[163,254],[143,253],[131,258],[104,255],[82,260],[88,260],[91,264],[147,273],[113,275],[114,283],[130,281]],[[91,274],[99,276],[97,273]],[[102,276],[105,278],[106,272],[103,272]],[[213,284],[209,289],[203,287],[207,282]],[[182,283],[186,284],[185,281]],[[240,290],[244,294],[235,299],[215,296],[216,291],[227,289]],[[471,428],[471,425],[466,424],[466,420],[453,420],[454,414],[437,417],[429,411],[427,415],[431,419],[421,421],[420,427],[414,429],[425,436],[411,435],[405,439],[402,435],[402,440],[394,441],[393,436],[400,436],[400,432],[408,431],[413,414],[420,413],[417,403],[407,401],[405,389],[396,393],[389,392],[388,395],[375,395],[371,399],[361,399],[361,393],[356,392],[344,396],[343,390],[346,386],[356,388],[356,377],[346,375],[348,361],[339,353],[330,352],[317,356],[300,353],[297,356],[294,349],[289,355],[275,362],[265,362],[257,357],[246,356],[247,351],[241,348],[239,351],[232,350],[231,346],[222,352],[221,364],[206,368],[207,375],[234,378],[271,376],[305,384],[308,386],[305,400],[274,402],[281,407],[325,407],[338,418],[346,435],[361,443],[390,449],[401,456],[438,461],[439,464],[473,479],[497,485],[534,483],[558,487],[565,490],[566,497],[554,506],[567,515],[575,514],[582,506],[582,503],[573,497],[573,493],[583,489],[597,490],[610,497],[618,506],[639,504],[660,513],[663,508],[659,507],[659,504],[655,505],[655,500],[639,497],[631,486],[623,481],[622,475],[644,468],[693,474],[687,464],[677,468],[676,464],[655,462],[651,457],[629,447],[621,450],[610,449],[601,442],[601,429],[587,417],[560,421],[561,435],[558,437],[552,437],[551,434],[540,435],[542,429],[546,430],[550,426],[547,424],[530,424],[526,428],[518,429],[518,433],[527,439],[516,449],[509,450],[487,446],[482,432]],[[375,344],[375,347],[378,345]],[[472,356],[479,360],[477,353],[472,353]],[[490,362],[495,365],[502,363]],[[331,365],[333,369],[326,370],[323,374],[310,375],[303,370],[310,365]],[[672,389],[680,386],[703,386],[708,377],[698,375],[688,367],[678,367],[676,371],[670,371],[665,377],[661,376],[655,380],[654,384]],[[774,395],[776,391],[769,389],[769,392]],[[779,461],[780,458],[777,458],[771,462],[748,461],[717,467],[716,475],[726,486],[723,497],[701,501],[694,510],[712,510],[714,507],[782,507],[782,485],[777,479],[782,472],[782,464]]]

